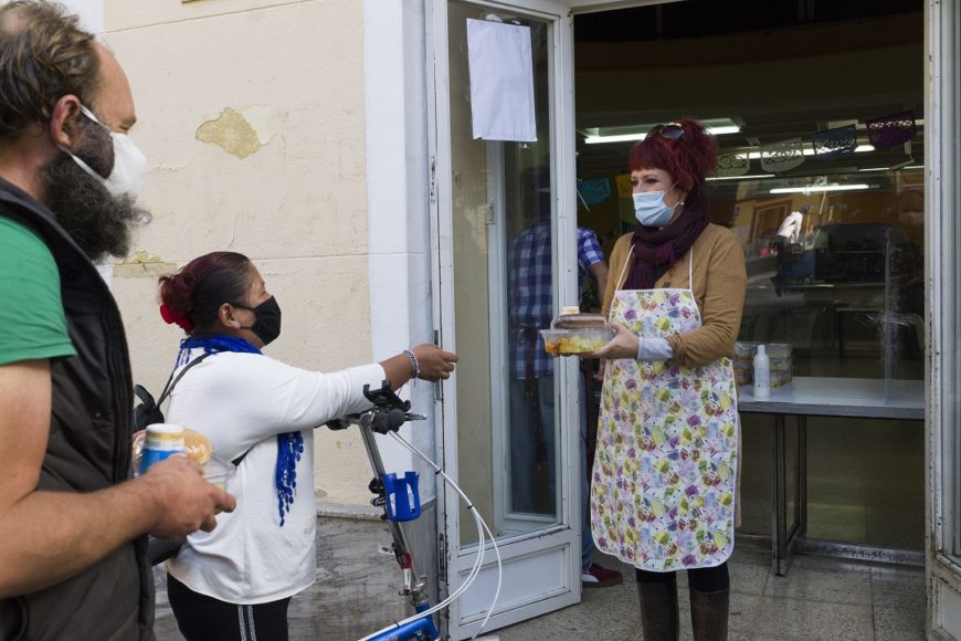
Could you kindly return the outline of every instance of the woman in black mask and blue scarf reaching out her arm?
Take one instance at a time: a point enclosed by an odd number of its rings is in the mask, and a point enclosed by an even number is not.
[[[187,333],[175,372],[204,358],[173,388],[167,420],[237,466],[228,485],[236,511],[167,563],[170,606],[188,641],[286,640],[291,597],[316,576],[314,428],[368,408],[365,385],[445,379],[457,356],[424,344],[329,374],[270,358],[261,349],[281,334],[281,309],[234,252],[161,276],[160,300],[163,319]]]

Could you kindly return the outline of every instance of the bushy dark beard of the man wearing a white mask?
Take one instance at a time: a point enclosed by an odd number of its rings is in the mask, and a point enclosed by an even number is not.
[[[129,196],[114,196],[66,154],[43,169],[45,202],[56,222],[92,261],[125,258],[135,229],[150,221]]]

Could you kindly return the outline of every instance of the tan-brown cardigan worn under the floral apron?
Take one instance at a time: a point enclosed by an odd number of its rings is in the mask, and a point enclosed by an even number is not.
[[[634,260],[631,253],[632,237],[633,233],[622,235],[611,252],[611,277],[608,279],[602,307],[605,317],[611,311],[614,292],[623,287],[631,270],[630,265],[625,270],[624,264]],[[694,246],[654,286],[689,287],[688,261],[691,251],[694,296],[704,325],[689,334],[667,337],[674,349],[672,360],[686,367],[710,362],[721,356],[733,356],[747,286],[743,249],[730,230],[714,223],[705,228]]]

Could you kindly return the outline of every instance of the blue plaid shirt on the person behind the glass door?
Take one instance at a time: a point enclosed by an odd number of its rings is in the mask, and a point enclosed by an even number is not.
[[[578,228],[578,300],[591,265],[604,260],[593,231]],[[510,374],[540,378],[553,374],[553,358],[543,350],[540,329],[553,319],[550,222],[528,228],[510,241],[507,254]]]

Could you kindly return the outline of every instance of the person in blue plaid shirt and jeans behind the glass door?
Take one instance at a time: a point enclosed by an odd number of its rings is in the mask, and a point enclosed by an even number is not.
[[[538,444],[542,442],[547,464],[547,505],[555,505],[556,440],[553,412],[553,358],[543,349],[541,329],[553,318],[552,252],[550,222],[550,174],[536,168],[526,176],[526,196],[532,201],[535,223],[510,241],[508,248],[508,315],[510,368],[510,487],[513,512],[538,513],[535,501]],[[593,277],[603,292],[608,266],[598,237],[579,227],[578,300],[585,277]],[[583,380],[580,381],[584,399]],[[621,572],[592,563],[593,539],[587,526],[589,502],[584,466],[587,404],[581,402],[581,517],[582,585],[606,587],[622,581]]]

